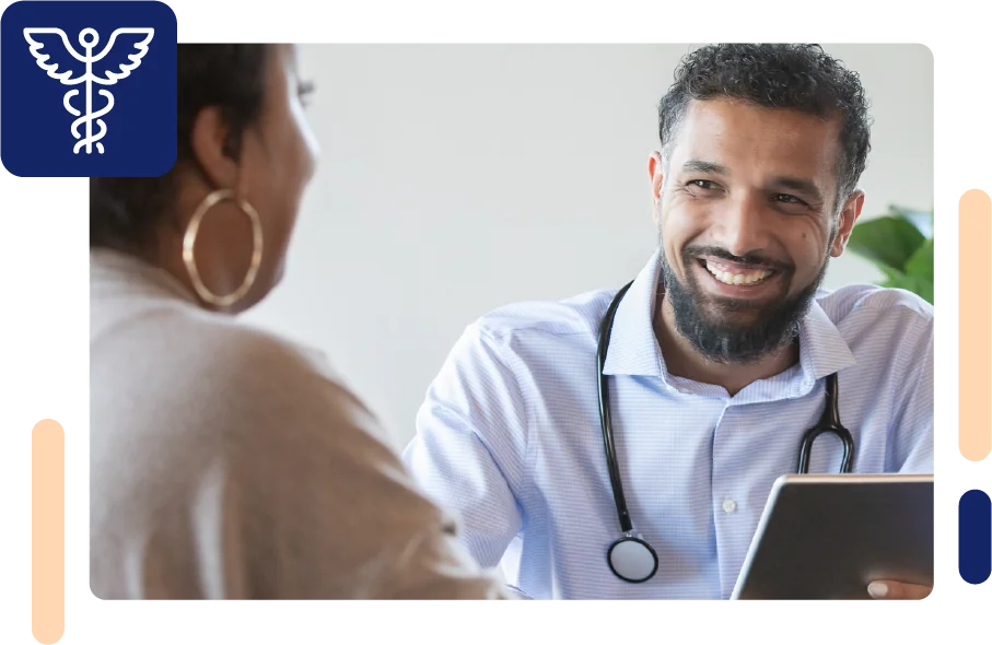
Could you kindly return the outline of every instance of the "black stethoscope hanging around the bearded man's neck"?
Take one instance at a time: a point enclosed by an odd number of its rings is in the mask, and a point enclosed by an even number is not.
[[[643,583],[651,579],[658,568],[658,556],[655,550],[641,536],[632,535],[633,526],[630,521],[630,513],[627,509],[627,500],[623,497],[623,484],[620,481],[620,469],[617,465],[617,452],[614,447],[612,425],[609,419],[609,388],[606,383],[606,375],[603,373],[606,363],[606,350],[609,348],[609,337],[614,327],[614,316],[617,314],[617,307],[627,290],[633,282],[629,282],[621,289],[599,327],[599,349],[597,357],[599,362],[599,423],[603,429],[603,443],[606,447],[606,464],[609,467],[609,479],[614,489],[614,502],[617,506],[617,514],[620,517],[620,530],[623,533],[621,538],[610,544],[606,552],[606,561],[610,571],[628,583]],[[851,472],[851,460],[854,455],[854,439],[851,433],[840,423],[840,412],[837,398],[837,373],[827,376],[826,406],[819,422],[803,436],[800,445],[800,464],[798,472],[806,474],[809,472],[809,453],[815,442],[825,432],[832,433],[840,437],[843,443],[844,456],[841,462],[841,472]]]

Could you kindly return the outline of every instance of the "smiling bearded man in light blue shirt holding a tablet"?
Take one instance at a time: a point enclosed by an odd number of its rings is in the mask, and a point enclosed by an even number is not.
[[[726,600],[835,379],[853,472],[934,471],[933,307],[821,288],[864,201],[857,77],[816,46],[704,47],[658,115],[660,244],[641,273],[469,326],[405,452],[479,562],[536,600]],[[822,435],[809,471],[843,456]],[[932,591],[877,583],[888,600]]]

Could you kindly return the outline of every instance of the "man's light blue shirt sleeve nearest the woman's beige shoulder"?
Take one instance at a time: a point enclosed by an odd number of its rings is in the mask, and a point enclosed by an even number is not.
[[[470,326],[431,384],[404,459],[418,483],[458,516],[462,540],[497,566],[523,526],[526,411],[501,343]]]

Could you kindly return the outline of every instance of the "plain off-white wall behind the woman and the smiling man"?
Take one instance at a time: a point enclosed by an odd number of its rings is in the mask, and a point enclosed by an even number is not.
[[[246,320],[325,350],[397,447],[464,327],[618,286],[654,250],[647,155],[679,37],[317,37],[323,145],[282,285]],[[863,218],[934,199],[934,49],[818,40],[873,103]],[[880,275],[850,254],[827,286]]]

